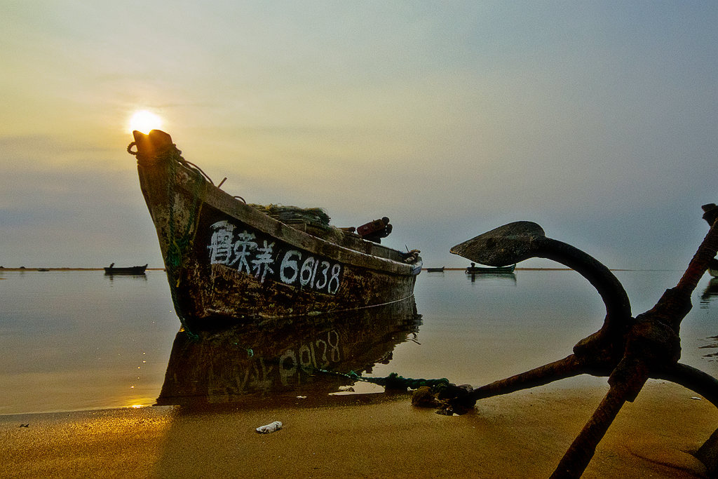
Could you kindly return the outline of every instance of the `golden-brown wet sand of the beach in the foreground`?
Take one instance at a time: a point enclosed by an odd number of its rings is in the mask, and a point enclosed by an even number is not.
[[[406,395],[311,406],[177,406],[0,417],[2,477],[546,478],[605,389],[544,387],[447,417]],[[718,409],[651,381],[601,442],[585,478],[703,477]],[[271,434],[255,428],[274,420]],[[27,427],[22,426],[27,424]]]

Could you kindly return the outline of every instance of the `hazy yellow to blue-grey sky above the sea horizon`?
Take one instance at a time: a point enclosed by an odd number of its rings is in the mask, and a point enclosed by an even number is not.
[[[4,0],[0,265],[162,266],[126,153],[147,110],[223,190],[388,216],[425,266],[531,220],[684,269],[718,203],[717,25],[690,0]]]

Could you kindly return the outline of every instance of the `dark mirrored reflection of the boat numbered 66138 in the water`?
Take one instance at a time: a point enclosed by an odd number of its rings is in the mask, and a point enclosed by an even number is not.
[[[180,331],[157,404],[248,403],[300,394],[323,398],[353,381],[320,370],[368,372],[386,363],[420,324],[411,298],[352,312],[202,330],[199,340]]]

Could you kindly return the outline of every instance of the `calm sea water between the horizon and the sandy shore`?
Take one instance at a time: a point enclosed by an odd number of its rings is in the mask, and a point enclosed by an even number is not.
[[[652,307],[681,277],[681,271],[615,274],[633,315]],[[181,368],[190,367],[195,376],[188,381],[203,380],[204,391],[225,395],[271,391],[274,376],[281,387],[302,386],[301,394],[311,394],[302,368],[306,373],[312,365],[480,386],[563,358],[605,315],[595,289],[574,271],[519,270],[473,280],[463,271],[423,272],[415,290],[420,319],[391,320],[373,331],[371,318],[363,317],[345,330],[315,325],[302,335],[301,327],[267,325],[215,341],[214,349],[202,349],[203,358],[185,357],[192,366],[182,366],[179,353],[198,349],[182,335],[175,341],[180,323],[163,271],[0,271],[0,278],[0,414],[157,404],[168,367],[167,376],[180,382],[178,371],[182,376]],[[715,283],[706,275],[694,292],[693,310],[681,326],[681,361],[718,376]],[[272,328],[284,331],[274,346]],[[234,366],[218,371],[234,358]],[[220,383],[228,377],[233,385]],[[577,379],[561,382],[571,381]],[[172,396],[171,389],[163,395]]]

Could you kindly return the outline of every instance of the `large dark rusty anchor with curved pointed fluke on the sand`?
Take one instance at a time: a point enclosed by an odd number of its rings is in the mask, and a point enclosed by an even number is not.
[[[574,269],[597,289],[606,316],[597,332],[579,341],[573,353],[553,363],[480,386],[473,401],[541,386],[563,378],[590,374],[607,376],[609,390],[584,428],[561,458],[551,478],[579,478],[596,447],[626,401],[632,402],[648,378],[678,383],[718,407],[718,380],[679,363],[681,321],[691,310],[691,293],[718,253],[718,206],[704,205],[710,225],[676,287],[667,289],[656,305],[633,317],[628,294],[612,272],[592,256],[567,243],[547,238],[543,228],[518,221],[495,228],[451,248],[451,252],[489,266],[545,258]],[[696,453],[709,473],[718,475],[718,429]]]

